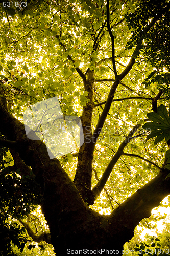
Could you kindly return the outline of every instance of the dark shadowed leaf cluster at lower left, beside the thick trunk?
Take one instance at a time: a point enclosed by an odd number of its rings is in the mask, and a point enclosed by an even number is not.
[[[2,137],[2,136],[1,136]],[[24,215],[35,209],[40,203],[40,189],[36,181],[30,176],[20,176],[20,170],[11,171],[9,160],[6,157],[6,149],[1,148],[0,152],[0,239],[2,245],[0,255],[14,255],[11,251],[12,242],[23,251],[27,239],[25,237],[25,228],[17,222],[17,218],[23,218]]]

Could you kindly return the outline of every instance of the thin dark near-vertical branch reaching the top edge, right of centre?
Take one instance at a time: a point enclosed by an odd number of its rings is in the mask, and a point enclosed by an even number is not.
[[[108,28],[108,32],[109,32],[111,42],[112,42],[112,64],[113,64],[114,75],[115,75],[115,78],[116,78],[117,77],[117,70],[116,70],[116,64],[115,64],[114,36],[113,36],[111,28],[110,28],[109,0],[107,0],[106,8],[107,8],[107,28]]]

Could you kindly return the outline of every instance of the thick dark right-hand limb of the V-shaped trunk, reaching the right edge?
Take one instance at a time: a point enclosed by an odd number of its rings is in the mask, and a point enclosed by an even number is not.
[[[143,218],[149,218],[153,208],[170,193],[169,178],[166,179],[169,170],[161,169],[159,174],[147,184],[139,188],[131,197],[128,197],[109,216],[114,230],[124,228],[129,237],[134,236],[134,228]],[[114,232],[114,231],[113,231]]]

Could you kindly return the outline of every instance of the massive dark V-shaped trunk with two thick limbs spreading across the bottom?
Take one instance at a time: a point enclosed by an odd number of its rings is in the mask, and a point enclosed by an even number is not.
[[[121,255],[123,245],[133,237],[136,225],[149,217],[151,210],[170,194],[170,181],[165,179],[169,171],[163,169],[111,215],[100,215],[84,203],[59,161],[50,160],[45,144],[28,139],[23,124],[12,117],[2,104],[0,118],[1,133],[8,140],[16,141],[11,143],[11,147],[31,166],[41,186],[44,197],[42,211],[50,227],[56,254],[66,254],[67,249],[107,249],[117,250]]]

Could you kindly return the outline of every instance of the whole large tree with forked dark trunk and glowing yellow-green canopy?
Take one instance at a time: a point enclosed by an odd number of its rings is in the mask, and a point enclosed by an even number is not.
[[[11,158],[1,175],[28,180],[50,229],[41,238],[56,253],[121,254],[170,194],[169,1],[12,3],[1,3],[0,143]],[[50,159],[43,139],[27,137],[22,114],[55,96],[65,116],[81,118],[84,143]],[[36,240],[26,198],[13,204],[14,217]],[[99,214],[101,205],[111,214]]]

